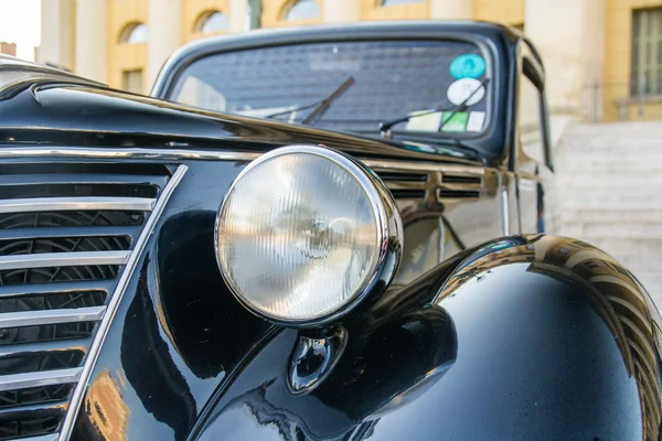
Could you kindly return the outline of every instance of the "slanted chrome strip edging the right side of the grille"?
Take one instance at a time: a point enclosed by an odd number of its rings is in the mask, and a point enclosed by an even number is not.
[[[108,330],[110,329],[110,324],[113,323],[113,319],[115,319],[115,314],[119,309],[121,298],[124,297],[129,281],[131,280],[131,276],[134,275],[140,258],[142,257],[142,251],[145,250],[145,247],[152,235],[157,222],[159,222],[159,218],[161,217],[170,196],[172,196],[174,189],[177,189],[178,184],[184,178],[188,169],[189,168],[186,165],[178,166],[170,181],[168,181],[168,184],[163,187],[160,197],[157,200],[157,204],[153,207],[152,214],[145,223],[145,228],[142,229],[140,237],[138,237],[138,240],[136,240],[134,251],[131,252],[131,256],[127,261],[127,266],[122,271],[119,281],[117,282],[117,287],[115,288],[115,291],[108,301],[107,313],[99,323],[97,333],[94,337],[92,346],[89,347],[89,352],[87,353],[79,381],[74,388],[68,411],[66,412],[62,422],[62,429],[58,438],[60,441],[67,441],[74,429],[74,422],[78,413],[78,408],[83,402],[85,391],[87,390],[87,384],[92,377],[92,373],[96,365],[102,346],[104,345],[104,341],[106,340],[106,335],[108,334]]]

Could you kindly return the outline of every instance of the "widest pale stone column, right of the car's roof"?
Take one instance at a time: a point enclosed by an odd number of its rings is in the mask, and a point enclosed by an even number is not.
[[[526,0],[524,31],[545,63],[551,112],[601,109],[594,86],[605,65],[605,0]]]

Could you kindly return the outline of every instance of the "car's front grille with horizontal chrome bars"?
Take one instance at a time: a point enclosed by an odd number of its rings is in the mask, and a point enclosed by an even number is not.
[[[55,440],[171,179],[147,163],[0,164],[0,440]]]

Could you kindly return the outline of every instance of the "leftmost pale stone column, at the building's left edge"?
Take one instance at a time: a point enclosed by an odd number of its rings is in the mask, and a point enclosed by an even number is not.
[[[41,0],[41,43],[36,62],[74,71],[76,46],[75,0]]]

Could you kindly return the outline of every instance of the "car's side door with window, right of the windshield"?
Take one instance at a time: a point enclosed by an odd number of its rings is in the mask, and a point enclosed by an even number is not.
[[[531,52],[524,53],[521,66],[514,161],[520,229],[523,234],[554,232],[554,173],[544,73]]]

